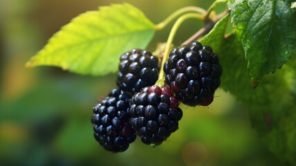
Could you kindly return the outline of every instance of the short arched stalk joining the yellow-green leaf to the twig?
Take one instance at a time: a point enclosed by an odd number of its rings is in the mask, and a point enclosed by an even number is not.
[[[154,28],[156,30],[162,30],[163,28],[165,28],[165,26],[167,26],[167,24],[169,24],[170,21],[172,21],[173,19],[175,19],[176,17],[178,17],[179,15],[181,15],[185,12],[199,12],[202,15],[205,15],[207,11],[205,11],[203,8],[199,8],[196,6],[187,6],[185,8],[181,8],[179,10],[176,10],[176,12],[173,12],[172,15],[169,15],[169,17],[167,17],[167,19],[160,22],[159,24],[156,24],[154,26]]]

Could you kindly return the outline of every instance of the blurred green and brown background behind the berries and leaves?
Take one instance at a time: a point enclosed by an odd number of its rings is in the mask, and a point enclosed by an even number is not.
[[[24,64],[57,32],[86,10],[120,0],[0,0],[0,165],[279,165],[252,129],[245,108],[218,89],[210,107],[183,107],[179,129],[159,147],[140,139],[111,154],[93,138],[92,107],[115,88],[115,75],[75,75],[55,67]],[[125,0],[154,23],[185,6],[213,1]],[[223,11],[225,6],[217,8]],[[203,26],[186,21],[174,43]],[[170,24],[156,33],[154,50]]]

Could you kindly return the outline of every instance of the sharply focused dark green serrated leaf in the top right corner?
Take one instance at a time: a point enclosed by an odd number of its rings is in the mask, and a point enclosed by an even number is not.
[[[296,14],[290,5],[290,0],[233,0],[229,4],[232,25],[255,82],[295,55]]]

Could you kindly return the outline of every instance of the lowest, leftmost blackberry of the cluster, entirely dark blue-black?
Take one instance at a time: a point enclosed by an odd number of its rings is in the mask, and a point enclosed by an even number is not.
[[[107,98],[93,107],[91,122],[95,139],[108,151],[125,151],[136,139],[136,132],[129,124],[130,101],[130,95],[113,89]]]

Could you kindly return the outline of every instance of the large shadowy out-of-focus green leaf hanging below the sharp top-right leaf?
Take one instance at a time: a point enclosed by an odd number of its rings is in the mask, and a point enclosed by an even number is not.
[[[246,108],[252,126],[268,149],[285,165],[296,164],[296,73],[289,61],[275,74],[268,74],[252,89],[248,62],[235,35],[221,44],[221,87],[230,91]],[[252,146],[252,145],[250,145]]]

